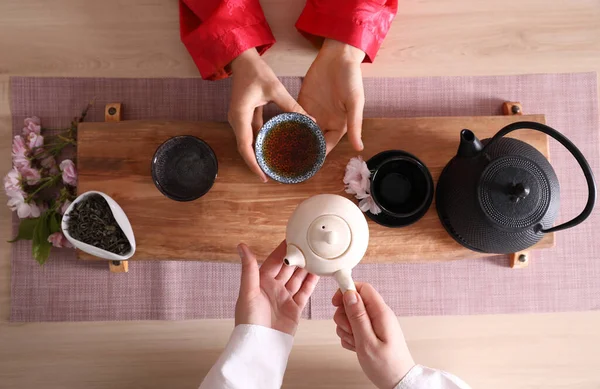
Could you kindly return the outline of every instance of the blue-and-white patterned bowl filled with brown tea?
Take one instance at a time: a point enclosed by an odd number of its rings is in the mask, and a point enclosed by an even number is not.
[[[297,184],[315,175],[325,162],[323,132],[311,118],[286,112],[267,121],[254,144],[256,161],[275,181]]]

